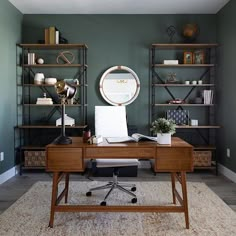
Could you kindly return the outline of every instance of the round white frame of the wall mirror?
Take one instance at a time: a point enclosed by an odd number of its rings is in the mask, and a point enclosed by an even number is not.
[[[123,70],[123,71],[129,72],[130,74],[133,75],[135,82],[136,82],[136,88],[135,88],[134,95],[131,98],[129,98],[127,101],[122,102],[122,103],[111,100],[104,91],[104,81],[105,81],[106,76],[116,70]],[[102,97],[109,104],[114,105],[114,106],[126,106],[126,105],[132,103],[137,98],[139,91],[140,91],[140,81],[139,81],[137,74],[129,67],[127,67],[127,66],[113,66],[103,73],[103,75],[100,79],[99,89],[100,89],[100,93],[101,93]]]

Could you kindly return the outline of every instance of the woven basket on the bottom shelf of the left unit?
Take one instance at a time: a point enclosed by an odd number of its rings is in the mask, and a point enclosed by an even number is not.
[[[46,166],[45,151],[25,151],[25,166],[43,167]]]

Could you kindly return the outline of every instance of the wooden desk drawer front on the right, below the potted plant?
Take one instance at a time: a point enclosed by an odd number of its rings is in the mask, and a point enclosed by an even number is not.
[[[189,147],[157,148],[155,171],[193,171],[193,149]]]

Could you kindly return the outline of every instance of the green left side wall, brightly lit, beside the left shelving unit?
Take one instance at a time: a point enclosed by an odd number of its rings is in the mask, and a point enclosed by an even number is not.
[[[7,0],[0,1],[0,174],[15,165],[14,126],[16,124],[16,43],[21,41],[23,15]]]

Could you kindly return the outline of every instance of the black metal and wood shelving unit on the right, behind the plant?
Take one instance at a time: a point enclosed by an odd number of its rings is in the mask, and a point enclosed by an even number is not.
[[[216,65],[218,44],[152,44],[150,49],[150,124],[157,117],[166,115],[168,109],[185,110],[195,109],[193,113],[202,112],[204,117],[198,126],[178,125],[176,136],[181,136],[187,142],[193,144],[194,151],[211,151],[212,161],[209,166],[194,167],[194,169],[212,169],[217,174],[217,152],[216,152],[216,131],[220,128],[216,124]],[[194,52],[203,50],[205,53],[204,64],[184,64],[183,55],[185,51]],[[167,58],[166,58],[167,56]],[[179,64],[164,64],[164,59],[178,60]],[[178,78],[176,83],[168,83],[165,75],[170,71],[184,76]],[[200,73],[199,73],[200,71]],[[188,74],[188,75],[187,75]],[[197,77],[195,77],[197,75]],[[202,80],[202,84],[184,84],[183,80]],[[214,99],[212,104],[196,104],[191,98],[196,92],[204,89],[213,91]],[[160,92],[161,91],[161,92]],[[164,101],[163,97],[176,100],[176,94],[181,95],[180,104],[170,104]],[[191,112],[187,119],[190,121]],[[192,137],[197,136],[196,140]],[[198,143],[199,141],[199,143]]]

